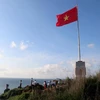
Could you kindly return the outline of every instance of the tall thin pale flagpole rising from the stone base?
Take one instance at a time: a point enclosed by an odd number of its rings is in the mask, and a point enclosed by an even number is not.
[[[77,0],[76,0],[76,4],[77,4],[77,11],[78,11],[78,3],[77,3]],[[78,17],[78,14],[77,14],[77,17]],[[79,59],[79,61],[81,61],[79,19],[77,20],[77,30],[78,30],[78,59]]]

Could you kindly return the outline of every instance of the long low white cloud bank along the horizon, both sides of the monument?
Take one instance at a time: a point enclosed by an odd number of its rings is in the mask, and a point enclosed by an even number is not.
[[[71,63],[70,63],[71,62]],[[26,63],[25,63],[26,64]],[[63,63],[64,64],[64,63]],[[75,77],[75,62],[69,61],[63,64],[45,64],[41,67],[10,67],[6,66],[7,69],[2,69],[0,73],[1,77],[15,77],[15,78],[39,78],[39,79],[55,79],[55,78],[66,78]],[[19,66],[19,65],[18,65]],[[99,67],[99,66],[98,66]],[[96,67],[90,62],[86,62],[87,75],[96,74]]]

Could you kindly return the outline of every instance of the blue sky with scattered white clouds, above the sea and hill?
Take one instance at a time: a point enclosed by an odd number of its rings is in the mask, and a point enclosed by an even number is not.
[[[77,0],[82,61],[100,67],[100,0]],[[76,0],[0,0],[0,77],[75,77],[77,22],[56,27]]]

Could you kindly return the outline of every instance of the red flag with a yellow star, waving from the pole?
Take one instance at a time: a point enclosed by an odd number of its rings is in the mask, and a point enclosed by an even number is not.
[[[69,24],[71,22],[78,20],[78,11],[77,7],[74,7],[63,14],[57,15],[57,23],[56,26],[63,26],[65,24]]]

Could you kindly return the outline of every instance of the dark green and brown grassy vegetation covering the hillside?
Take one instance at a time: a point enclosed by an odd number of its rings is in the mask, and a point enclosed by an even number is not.
[[[100,100],[100,73],[85,79],[69,79],[56,87],[30,86],[12,89],[0,95],[0,100]]]

